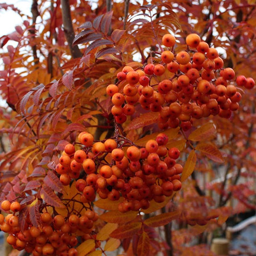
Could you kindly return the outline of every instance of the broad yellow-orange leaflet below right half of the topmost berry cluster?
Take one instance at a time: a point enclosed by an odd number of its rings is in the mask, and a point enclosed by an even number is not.
[[[212,122],[207,122],[189,134],[188,139],[192,141],[209,140],[215,133],[216,129],[214,124]]]

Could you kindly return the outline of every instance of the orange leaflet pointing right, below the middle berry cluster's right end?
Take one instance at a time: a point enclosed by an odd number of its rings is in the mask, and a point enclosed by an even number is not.
[[[144,224],[149,226],[149,227],[160,227],[164,226],[168,223],[171,222],[171,220],[176,219],[177,217],[180,216],[179,211],[173,211],[173,212],[166,212],[159,214],[157,216],[150,217],[144,221]]]

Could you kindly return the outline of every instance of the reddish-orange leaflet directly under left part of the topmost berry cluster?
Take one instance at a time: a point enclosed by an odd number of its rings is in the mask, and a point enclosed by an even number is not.
[[[147,112],[134,118],[124,129],[124,131],[134,130],[158,121],[158,112]]]

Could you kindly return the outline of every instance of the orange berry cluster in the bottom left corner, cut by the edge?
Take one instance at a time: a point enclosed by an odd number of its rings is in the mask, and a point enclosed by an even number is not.
[[[4,200],[1,208],[9,212],[5,217],[0,214],[0,229],[9,233],[7,243],[17,250],[25,249],[33,256],[77,256],[75,246],[78,239],[88,239],[94,221],[98,219],[98,214],[90,209],[80,216],[70,213],[66,218],[44,212],[40,214],[41,226],[35,227],[26,222],[21,231],[18,216],[20,204]]]

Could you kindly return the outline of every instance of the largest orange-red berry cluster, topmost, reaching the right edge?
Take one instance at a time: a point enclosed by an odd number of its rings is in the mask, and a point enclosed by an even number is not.
[[[107,86],[116,122],[125,122],[127,116],[134,114],[134,104],[139,102],[143,109],[159,113],[159,128],[180,125],[188,130],[193,119],[211,114],[229,118],[239,108],[242,97],[236,85],[254,87],[253,78],[243,75],[235,78],[232,68],[223,68],[218,51],[198,35],[188,35],[187,49],[177,53],[175,43],[174,36],[164,35],[162,44],[171,50],[157,52],[160,59],[155,58],[156,63],[147,63],[143,68],[134,70],[125,66],[117,73],[117,84]],[[124,87],[121,81],[126,83]]]

